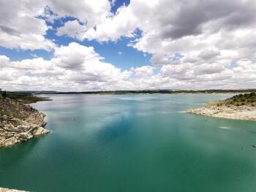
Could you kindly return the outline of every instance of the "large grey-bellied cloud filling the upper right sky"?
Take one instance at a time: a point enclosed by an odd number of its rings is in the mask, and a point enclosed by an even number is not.
[[[89,28],[84,39],[100,41],[141,37],[131,42],[144,53],[152,53],[152,64],[172,64],[176,53],[182,63],[209,65],[255,58],[256,3],[253,0],[131,1],[116,15]],[[225,65],[224,64],[224,65]]]

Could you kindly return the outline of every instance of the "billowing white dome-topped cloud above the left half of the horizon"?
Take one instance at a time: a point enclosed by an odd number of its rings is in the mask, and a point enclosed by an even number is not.
[[[10,61],[0,56],[1,88],[94,90],[123,85],[129,72],[105,63],[93,47],[72,42],[56,47],[54,57]],[[125,83],[125,82],[124,82]]]

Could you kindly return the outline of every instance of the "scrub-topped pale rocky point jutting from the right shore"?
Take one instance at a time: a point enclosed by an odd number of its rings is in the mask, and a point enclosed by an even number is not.
[[[215,118],[256,120],[256,93],[240,94],[223,101],[211,101],[206,107],[187,112]]]

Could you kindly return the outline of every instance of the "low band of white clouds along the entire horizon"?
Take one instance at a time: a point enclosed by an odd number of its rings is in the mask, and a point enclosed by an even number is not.
[[[72,42],[56,47],[54,57],[10,61],[0,55],[0,87],[8,90],[95,91],[159,88],[250,88],[256,65],[238,61],[221,64],[175,63],[121,70],[103,61],[93,47]]]

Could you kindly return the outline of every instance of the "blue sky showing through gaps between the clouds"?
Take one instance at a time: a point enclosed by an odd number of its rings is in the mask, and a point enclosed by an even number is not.
[[[129,1],[127,0],[117,0],[115,1],[114,6],[111,7],[111,12],[115,13],[118,7],[121,7],[123,5],[127,6],[128,4]],[[67,46],[70,42],[78,42],[79,44],[85,45],[87,47],[94,47],[94,50],[104,58],[103,61],[113,64],[123,70],[150,64],[150,53],[143,53],[128,46],[132,38],[121,37],[116,42],[97,42],[96,40],[83,40],[81,42],[71,37],[57,36],[56,29],[60,26],[64,26],[64,23],[68,20],[75,20],[75,18],[61,18],[59,20],[56,20],[56,22],[53,24],[48,23],[48,25],[52,26],[53,29],[47,31],[45,38],[55,39],[56,45],[59,46]],[[1,55],[7,55],[7,57],[9,57],[11,61],[20,61],[23,59],[35,57],[42,57],[46,60],[53,58],[53,52],[48,52],[46,50],[17,50],[0,47],[0,53]]]

